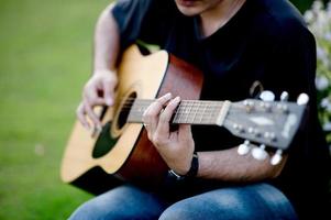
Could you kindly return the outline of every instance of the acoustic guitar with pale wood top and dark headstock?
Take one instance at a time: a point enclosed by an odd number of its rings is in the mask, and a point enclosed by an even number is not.
[[[153,188],[164,180],[168,167],[141,122],[148,105],[166,92],[181,97],[172,123],[224,127],[246,140],[242,146],[287,150],[305,111],[305,105],[287,101],[199,100],[202,73],[166,51],[142,55],[136,45],[129,47],[118,76],[115,105],[99,109],[101,133],[91,134],[76,121],[63,157],[63,182],[92,194],[123,182]]]

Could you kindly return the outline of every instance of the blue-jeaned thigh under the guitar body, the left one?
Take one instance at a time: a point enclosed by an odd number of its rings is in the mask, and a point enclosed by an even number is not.
[[[69,219],[157,219],[165,208],[155,195],[125,185],[82,204]]]

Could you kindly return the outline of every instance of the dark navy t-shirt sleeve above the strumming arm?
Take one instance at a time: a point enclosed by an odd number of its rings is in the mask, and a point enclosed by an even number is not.
[[[174,3],[157,0],[118,0],[111,13],[121,37],[121,48],[137,38],[161,45],[173,20]]]

